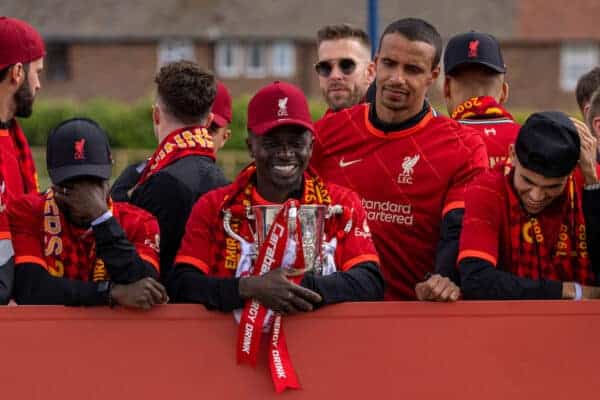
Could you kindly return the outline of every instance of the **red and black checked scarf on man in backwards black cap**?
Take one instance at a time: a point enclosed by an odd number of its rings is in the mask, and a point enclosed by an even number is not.
[[[510,272],[531,279],[593,284],[581,198],[573,177],[561,197],[532,216],[523,210],[513,176],[514,170],[504,180],[510,205]]]

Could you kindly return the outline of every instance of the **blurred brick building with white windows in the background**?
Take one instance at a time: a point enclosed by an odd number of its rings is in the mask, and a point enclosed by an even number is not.
[[[151,94],[164,62],[187,58],[216,72],[234,95],[282,79],[318,97],[315,33],[366,24],[366,0],[19,0],[5,15],[36,26],[48,43],[44,98],[133,101]],[[60,10],[60,11],[56,11]],[[417,16],[444,39],[470,29],[502,43],[510,107],[575,109],[578,77],[599,63],[597,0],[379,0],[380,29]],[[440,101],[438,85],[432,91]]]

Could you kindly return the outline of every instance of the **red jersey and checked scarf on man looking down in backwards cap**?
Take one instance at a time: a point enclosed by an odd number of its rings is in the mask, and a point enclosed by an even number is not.
[[[512,172],[479,175],[466,193],[458,261],[484,260],[522,278],[593,284],[583,178],[578,170],[573,175],[563,194],[536,215],[520,205]]]

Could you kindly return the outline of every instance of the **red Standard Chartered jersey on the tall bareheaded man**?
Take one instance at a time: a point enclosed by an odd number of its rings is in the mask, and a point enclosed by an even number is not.
[[[386,299],[415,299],[434,269],[443,216],[464,207],[466,184],[487,168],[474,131],[430,110],[415,126],[384,133],[361,104],[316,124],[312,166],[362,205],[386,279]]]

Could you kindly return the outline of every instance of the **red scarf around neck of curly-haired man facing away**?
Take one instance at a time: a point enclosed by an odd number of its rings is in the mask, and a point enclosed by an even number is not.
[[[202,126],[189,126],[169,133],[148,160],[137,185],[180,158],[198,155],[215,159],[212,136]]]

